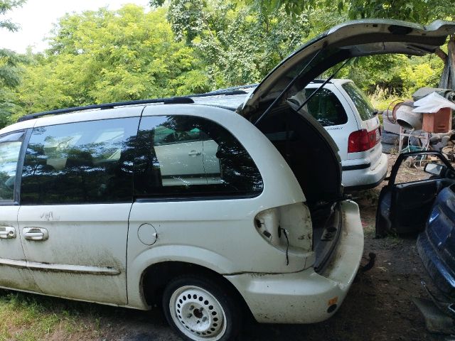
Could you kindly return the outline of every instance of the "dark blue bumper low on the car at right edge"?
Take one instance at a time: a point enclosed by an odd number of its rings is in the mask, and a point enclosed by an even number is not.
[[[427,231],[420,233],[417,238],[417,252],[433,283],[447,296],[455,298],[454,271],[441,260],[432,242],[429,241]]]

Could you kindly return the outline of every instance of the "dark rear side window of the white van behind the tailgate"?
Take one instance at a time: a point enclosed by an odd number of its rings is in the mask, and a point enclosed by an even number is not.
[[[305,96],[308,98],[316,88],[305,89]],[[306,104],[309,114],[314,117],[322,126],[337,126],[348,121],[346,112],[341,102],[330,90],[321,89],[311,97]]]

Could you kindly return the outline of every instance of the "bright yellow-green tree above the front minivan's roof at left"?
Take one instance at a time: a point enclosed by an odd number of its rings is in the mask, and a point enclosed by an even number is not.
[[[16,96],[22,115],[208,90],[192,48],[174,39],[166,11],[127,5],[61,18],[50,48],[26,66]]]

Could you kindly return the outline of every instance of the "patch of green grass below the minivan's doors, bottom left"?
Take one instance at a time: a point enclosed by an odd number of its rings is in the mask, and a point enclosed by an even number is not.
[[[0,341],[79,340],[102,335],[102,307],[0,290]]]

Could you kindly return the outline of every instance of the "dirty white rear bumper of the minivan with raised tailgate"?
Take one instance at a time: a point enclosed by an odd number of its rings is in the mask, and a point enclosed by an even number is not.
[[[261,323],[316,323],[331,317],[343,302],[363,254],[358,205],[341,202],[342,231],[323,273],[313,268],[293,274],[225,276]],[[285,259],[283,257],[283,266]]]

